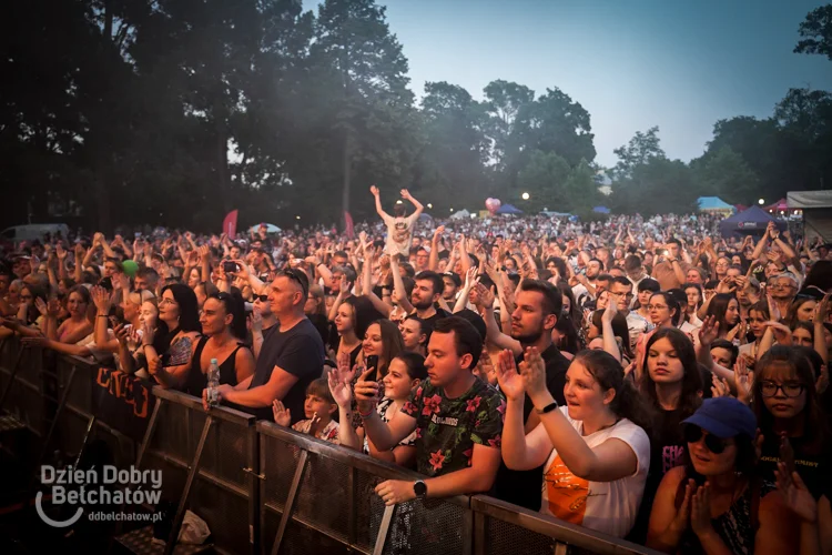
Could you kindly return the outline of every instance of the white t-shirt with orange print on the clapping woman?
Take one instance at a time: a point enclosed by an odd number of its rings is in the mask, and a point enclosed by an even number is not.
[[[568,407],[561,406],[559,411],[581,433],[584,423],[570,418]],[[641,427],[627,418],[582,437],[589,447],[596,447],[609,438],[625,442],[638,458],[636,473],[615,482],[589,482],[569,472],[558,452],[552,450],[544,466],[540,512],[605,534],[625,537],[636,523],[645,493],[647,471],[650,468],[650,440]]]

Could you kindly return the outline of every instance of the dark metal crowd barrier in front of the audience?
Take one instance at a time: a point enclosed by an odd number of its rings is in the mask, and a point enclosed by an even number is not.
[[[9,364],[14,361],[23,363],[10,377]],[[32,380],[33,370],[35,374],[40,370],[24,367],[30,364],[40,363],[0,345],[0,386],[9,380]],[[61,448],[74,448],[78,457],[93,428],[118,440],[116,445],[131,444],[104,422],[105,415],[95,415],[93,394],[84,386],[94,379],[94,369],[74,357],[63,357],[57,365],[62,394],[55,398],[58,425],[52,427]],[[19,385],[20,391],[35,391],[29,385]],[[175,547],[185,509],[207,523],[214,546],[227,553],[656,553],[485,495],[386,507],[375,495],[375,485],[417,474],[270,422],[255,422],[247,413],[227,407],[205,412],[201,400],[181,392],[155,387],[153,395],[156,403],[144,438],[130,462],[162,471],[162,498],[175,507],[165,553]],[[6,408],[20,408],[28,415],[27,426],[42,431],[43,423],[33,422],[32,400],[9,395]],[[150,538],[150,529],[144,528],[119,541],[139,552]]]

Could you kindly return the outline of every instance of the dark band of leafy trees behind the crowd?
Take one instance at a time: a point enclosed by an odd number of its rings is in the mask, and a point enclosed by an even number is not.
[[[832,60],[831,30],[832,6],[813,10],[794,51]],[[668,159],[658,127],[636,131],[602,171],[590,113],[555,82],[428,82],[417,99],[374,0],[31,0],[0,32],[10,224],[211,230],[232,209],[244,223],[329,224],[344,210],[372,218],[374,183],[438,215],[487,196],[679,212],[700,194],[739,203],[832,183],[828,91],[791,89],[770,118],[716,122],[689,163]]]

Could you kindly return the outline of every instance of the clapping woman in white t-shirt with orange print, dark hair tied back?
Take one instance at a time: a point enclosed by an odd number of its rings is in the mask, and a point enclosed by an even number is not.
[[[557,407],[546,387],[546,365],[528,349],[518,373],[510,351],[500,354],[498,380],[508,401],[503,460],[511,470],[545,464],[540,511],[623,537],[636,522],[649,467],[650,441],[642,426],[648,405],[619,362],[605,351],[581,351],[569,365]],[[540,424],[524,431],[528,393]],[[555,407],[555,410],[552,410]],[[590,495],[591,492],[591,495]]]

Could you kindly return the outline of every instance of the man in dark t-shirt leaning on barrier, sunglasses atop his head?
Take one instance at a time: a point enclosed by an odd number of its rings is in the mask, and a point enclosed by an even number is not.
[[[304,418],[306,386],[321,377],[324,365],[324,343],[303,311],[307,292],[308,280],[298,270],[286,270],[275,278],[268,301],[280,329],[263,342],[250,379],[233,387],[217,387],[220,401],[272,420],[272,403],[280,400],[290,410],[293,424]],[[206,392],[203,404],[207,406]]]

